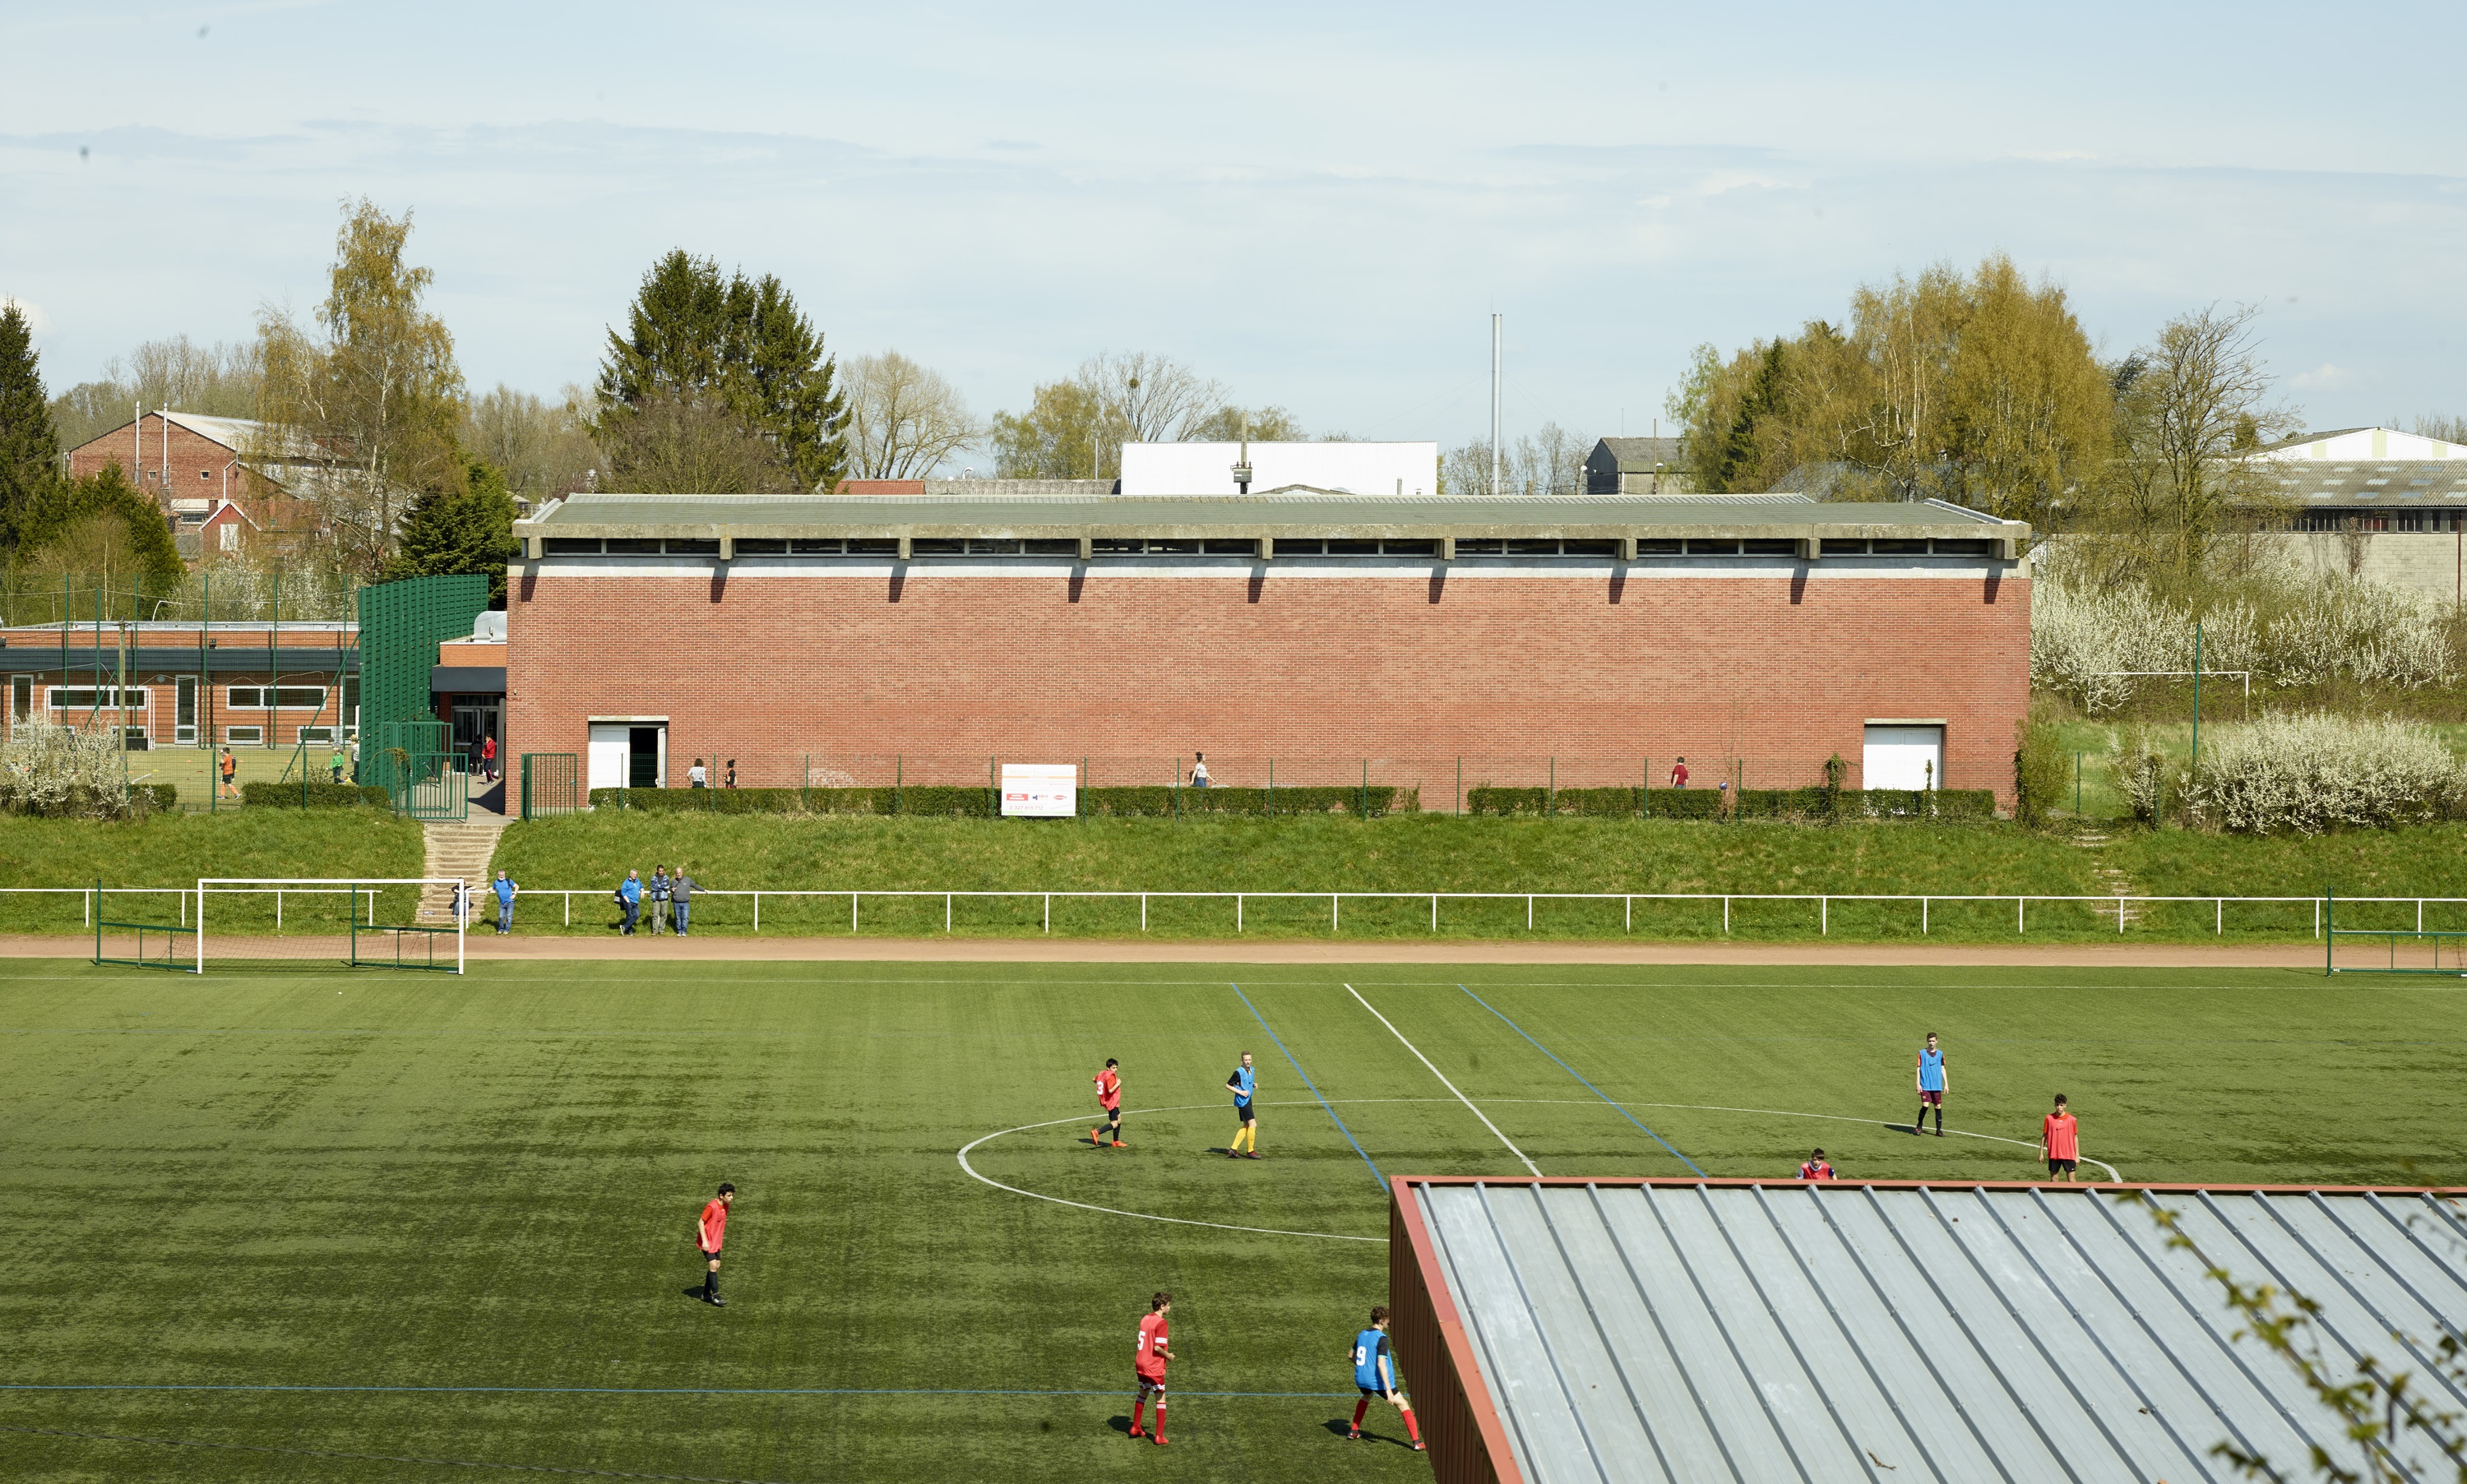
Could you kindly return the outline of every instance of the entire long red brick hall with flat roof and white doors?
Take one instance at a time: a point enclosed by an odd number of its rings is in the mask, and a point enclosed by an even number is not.
[[[2011,804],[2028,707],[2030,532],[1946,503],[585,493],[516,535],[511,752],[592,786],[1204,752],[1219,786],[1367,767],[1443,809],[1458,759],[1791,786],[1840,754]]]

